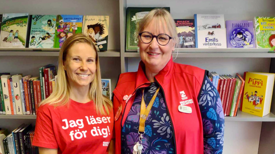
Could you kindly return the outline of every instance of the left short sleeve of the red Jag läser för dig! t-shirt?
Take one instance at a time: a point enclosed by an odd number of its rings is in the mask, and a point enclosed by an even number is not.
[[[57,149],[58,143],[53,132],[53,121],[50,114],[37,112],[36,126],[32,145]]]

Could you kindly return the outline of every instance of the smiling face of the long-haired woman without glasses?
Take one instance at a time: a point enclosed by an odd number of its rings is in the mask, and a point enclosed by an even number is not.
[[[96,74],[96,51],[88,43],[76,43],[69,49],[63,66],[72,88],[89,88]]]

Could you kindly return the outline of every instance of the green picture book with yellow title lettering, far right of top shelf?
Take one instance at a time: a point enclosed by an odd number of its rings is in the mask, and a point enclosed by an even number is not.
[[[257,48],[270,48],[275,51],[275,17],[255,17]]]

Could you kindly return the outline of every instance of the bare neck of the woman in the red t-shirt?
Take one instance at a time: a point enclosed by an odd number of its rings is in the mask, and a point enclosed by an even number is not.
[[[85,86],[85,87],[71,86],[70,92],[71,92],[70,99],[73,99],[76,102],[87,103],[91,101],[91,99],[89,98],[89,86]]]

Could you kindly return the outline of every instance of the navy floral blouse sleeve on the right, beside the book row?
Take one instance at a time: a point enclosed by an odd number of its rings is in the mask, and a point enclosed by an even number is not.
[[[202,115],[204,153],[222,153],[225,127],[222,102],[207,75],[202,82],[198,103]]]

